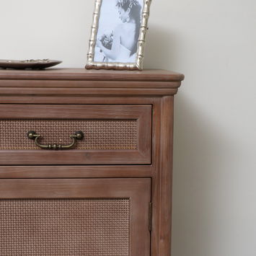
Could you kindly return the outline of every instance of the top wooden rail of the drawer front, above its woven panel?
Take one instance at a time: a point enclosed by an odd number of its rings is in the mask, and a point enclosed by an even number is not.
[[[0,105],[1,119],[151,119],[151,105]]]

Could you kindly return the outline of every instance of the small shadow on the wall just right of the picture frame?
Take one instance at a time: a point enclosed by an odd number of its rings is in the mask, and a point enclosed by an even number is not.
[[[171,30],[152,25],[146,34],[145,69],[172,69],[177,66],[177,35]]]

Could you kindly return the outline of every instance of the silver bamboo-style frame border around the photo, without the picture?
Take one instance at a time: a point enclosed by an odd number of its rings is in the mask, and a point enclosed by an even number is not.
[[[89,50],[87,54],[86,69],[117,69],[117,70],[142,70],[144,60],[144,45],[146,38],[146,30],[148,30],[149,9],[151,0],[144,0],[144,6],[141,14],[141,29],[138,36],[138,48],[136,53],[135,63],[120,63],[120,62],[95,62],[94,48],[97,40],[97,31],[100,19],[100,8],[103,0],[95,0],[91,37],[89,38]]]

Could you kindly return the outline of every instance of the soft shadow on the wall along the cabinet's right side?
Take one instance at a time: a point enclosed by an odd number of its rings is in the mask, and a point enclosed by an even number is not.
[[[196,102],[175,96],[173,256],[216,256],[211,252],[226,240],[219,218],[226,204],[230,139]]]

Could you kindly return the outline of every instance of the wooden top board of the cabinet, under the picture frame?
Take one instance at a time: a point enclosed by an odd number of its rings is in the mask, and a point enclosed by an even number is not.
[[[148,69],[144,71],[0,69],[0,80],[182,81],[183,79],[184,75],[182,74],[159,69]]]

